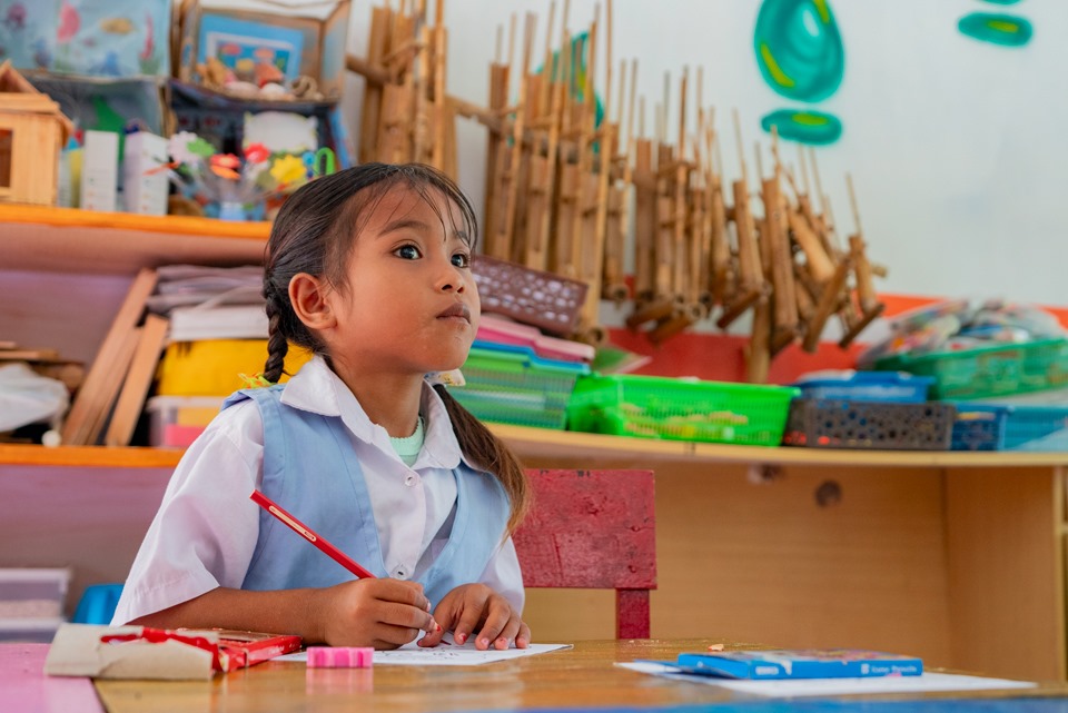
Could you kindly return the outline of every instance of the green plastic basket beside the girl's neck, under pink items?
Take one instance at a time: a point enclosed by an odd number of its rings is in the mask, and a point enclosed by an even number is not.
[[[465,386],[448,390],[483,420],[563,429],[581,369],[530,354],[473,348],[461,367]]]

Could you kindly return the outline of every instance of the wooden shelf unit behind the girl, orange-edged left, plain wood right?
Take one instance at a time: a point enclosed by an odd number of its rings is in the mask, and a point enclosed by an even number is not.
[[[264,224],[0,206],[0,335],[91,360],[139,268],[256,264],[266,237]],[[493,430],[528,467],[656,473],[654,636],[873,647],[1066,677],[1068,454]],[[0,566],[72,566],[72,600],[121,580],[180,455],[0,445]],[[536,636],[567,641],[611,636],[612,611],[611,593],[531,592],[526,617]]]

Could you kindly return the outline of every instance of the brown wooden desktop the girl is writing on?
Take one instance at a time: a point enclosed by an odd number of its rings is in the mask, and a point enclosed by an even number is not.
[[[211,682],[98,681],[108,713],[162,711],[482,711],[543,707],[664,707],[751,701],[725,689],[635,673],[614,662],[674,658],[704,650],[701,641],[587,641],[574,650],[468,667],[377,666],[373,670],[306,669],[268,662]],[[729,647],[733,646],[728,644]],[[751,646],[749,646],[751,647]],[[917,699],[919,694],[881,696]],[[960,697],[922,694],[921,697]],[[1068,696],[1068,685],[985,692],[981,697]],[[969,694],[969,697],[977,697]],[[959,704],[959,702],[955,702]],[[1066,703],[1068,704],[1068,703]]]

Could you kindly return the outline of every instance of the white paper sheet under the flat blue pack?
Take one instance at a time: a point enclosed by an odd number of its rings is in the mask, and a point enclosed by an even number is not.
[[[673,666],[652,661],[635,661],[631,663],[617,663],[616,665],[640,673],[723,686],[724,689],[730,689],[739,693],[771,697],[850,695],[858,693],[913,693],[926,691],[990,691],[999,689],[1030,689],[1037,685],[1028,681],[985,679],[949,673],[924,673],[919,676],[878,676],[871,679],[739,681],[735,679],[718,679],[715,676],[679,673]]]

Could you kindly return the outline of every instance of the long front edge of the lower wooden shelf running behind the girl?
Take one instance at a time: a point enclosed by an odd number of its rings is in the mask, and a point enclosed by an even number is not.
[[[575,458],[596,466],[596,458],[641,458],[705,463],[752,463],[759,465],[811,465],[840,467],[1049,467],[1068,465],[1068,453],[965,453],[833,450],[819,448],[762,448],[681,440],[650,440],[623,436],[525,428],[495,424],[492,430],[504,438],[516,454],[536,458],[546,453],[554,458]],[[111,468],[174,467],[181,458],[178,448],[109,448],[103,446],[0,445],[0,466],[46,465]]]

